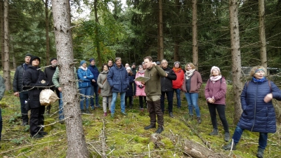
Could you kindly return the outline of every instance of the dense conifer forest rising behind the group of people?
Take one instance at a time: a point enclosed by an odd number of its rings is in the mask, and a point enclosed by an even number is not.
[[[261,2],[265,8],[263,15],[259,15]],[[230,11],[233,4],[237,5],[233,9],[237,15]],[[23,62],[26,53],[38,55],[41,66],[48,65],[49,59],[56,56],[52,5],[48,0],[0,1],[1,66],[8,91],[11,76],[6,74],[10,75],[10,71]],[[180,61],[182,66],[195,62],[203,79],[209,77],[211,66],[216,65],[230,83],[245,80],[240,77],[242,67],[266,64],[272,68],[271,79],[280,86],[280,0],[136,0],[126,1],[126,5],[124,8],[116,0],[70,1],[72,51],[78,63],[96,58],[100,66],[119,56],[123,64],[136,62],[138,65],[144,56],[151,55],[154,61],[167,59],[170,66],[174,61]],[[74,8],[77,13],[73,13]],[[90,11],[89,15],[77,18],[79,14],[84,15],[85,10]],[[239,53],[233,53],[231,43],[232,35],[237,33],[230,31],[232,16],[239,20],[239,25],[238,22],[234,25],[234,29],[239,28],[236,38],[240,40],[236,46]],[[261,18],[266,40],[261,40]],[[235,55],[240,62],[234,62]],[[238,75],[233,67],[237,68]],[[240,95],[241,88],[242,84],[233,83],[234,98]],[[237,107],[237,103],[234,105]]]

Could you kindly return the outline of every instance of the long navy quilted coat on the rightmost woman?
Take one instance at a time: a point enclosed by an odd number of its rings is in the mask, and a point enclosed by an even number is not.
[[[237,126],[254,132],[275,133],[276,118],[272,100],[265,103],[263,98],[272,93],[273,98],[280,100],[281,91],[272,81],[270,86],[268,81],[249,81],[249,84],[244,85],[240,96],[243,112]]]

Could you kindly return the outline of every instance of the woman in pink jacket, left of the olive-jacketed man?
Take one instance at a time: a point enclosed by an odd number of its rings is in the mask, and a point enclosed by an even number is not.
[[[142,65],[138,65],[138,72],[136,73],[136,78],[144,77],[145,70],[143,70]],[[139,98],[140,108],[143,111],[143,99],[145,100],[146,104],[146,94],[145,94],[145,85],[141,84],[141,81],[135,81],[136,83],[136,96]]]

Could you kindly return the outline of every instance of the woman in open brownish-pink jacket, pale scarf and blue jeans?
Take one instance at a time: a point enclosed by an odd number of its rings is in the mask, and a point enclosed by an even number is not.
[[[188,101],[188,111],[190,117],[193,117],[193,108],[197,115],[197,122],[201,124],[200,109],[198,106],[198,93],[202,85],[201,74],[195,69],[195,65],[188,62],[185,65],[185,74],[183,79],[182,91],[185,92],[185,98]]]

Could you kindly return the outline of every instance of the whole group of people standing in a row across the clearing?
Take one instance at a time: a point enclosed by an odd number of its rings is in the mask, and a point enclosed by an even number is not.
[[[148,107],[150,116],[150,125],[145,126],[145,130],[155,129],[156,122],[158,129],[156,133],[164,131],[164,100],[165,95],[168,100],[169,117],[173,114],[173,97],[176,92],[177,107],[181,108],[181,91],[185,93],[188,101],[188,113],[193,118],[195,111],[197,122],[202,122],[200,108],[198,106],[198,96],[202,86],[200,72],[195,69],[195,65],[188,62],[185,69],[181,68],[180,62],[174,62],[174,67],[168,67],[168,61],[152,62],[152,58],[147,56],[143,59],[142,65],[133,63],[132,67],[126,64],[122,65],[122,59],[115,58],[108,61],[101,67],[100,72],[96,67],[93,58],[89,60],[90,65],[87,67],[86,61],[81,60],[78,70],[74,68],[76,75],[77,88],[79,88],[81,100],[81,112],[89,112],[95,107],[99,107],[98,93],[103,97],[104,116],[111,113],[115,117],[115,106],[118,93],[121,98],[121,114],[125,112],[126,100],[129,98],[129,107],[133,105],[133,97],[139,97],[140,110]],[[53,87],[60,97],[59,100],[59,119],[63,120],[63,101],[61,100],[62,88],[58,81],[59,70],[56,67],[57,60],[52,58],[50,67],[46,67],[44,72],[39,69],[41,60],[37,56],[27,53],[25,63],[17,67],[13,80],[13,91],[15,96],[20,97],[22,125],[30,124],[30,134],[34,138],[44,137],[44,112],[45,106],[39,102],[39,93],[46,86]],[[76,74],[77,72],[77,74]],[[272,99],[281,100],[281,91],[272,82],[266,79],[266,69],[264,67],[253,67],[250,73],[251,81],[247,81],[241,94],[241,103],[243,113],[233,134],[233,143],[223,146],[224,150],[235,150],[236,145],[242,136],[244,129],[249,131],[260,132],[259,148],[257,157],[263,157],[263,151],[267,145],[268,133],[275,133],[275,111]],[[135,81],[138,77],[148,77],[148,81]],[[226,119],[226,79],[222,77],[221,70],[214,66],[211,67],[210,78],[204,89],[204,96],[209,107],[213,131],[209,135],[218,135],[218,126],[216,121],[216,112],[221,119],[225,131],[224,140],[230,140],[230,131]],[[95,100],[92,96],[95,95]],[[89,96],[91,99],[89,99]],[[84,100],[86,107],[84,108]],[[90,100],[90,101],[89,101]],[[143,101],[144,100],[144,101]],[[95,105],[96,102],[96,105]],[[107,111],[109,107],[109,111]],[[31,110],[30,120],[27,112]]]

